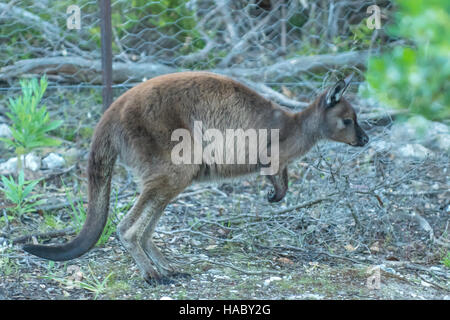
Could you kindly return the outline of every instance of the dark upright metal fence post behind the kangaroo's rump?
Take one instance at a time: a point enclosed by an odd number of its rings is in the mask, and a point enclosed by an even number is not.
[[[103,111],[112,103],[112,30],[111,0],[100,0],[100,29],[102,42]]]

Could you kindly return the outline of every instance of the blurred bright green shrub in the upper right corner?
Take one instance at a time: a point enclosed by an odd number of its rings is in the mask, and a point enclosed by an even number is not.
[[[408,45],[369,60],[367,91],[379,101],[431,120],[450,118],[450,7],[447,0],[397,0],[388,33]]]

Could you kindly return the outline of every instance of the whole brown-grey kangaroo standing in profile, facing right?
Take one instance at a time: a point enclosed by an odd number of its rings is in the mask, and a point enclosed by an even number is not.
[[[88,212],[78,236],[61,245],[26,244],[23,249],[55,261],[75,259],[90,250],[107,221],[113,166],[120,157],[140,178],[141,193],[118,225],[119,239],[147,282],[170,281],[177,274],[175,268],[152,241],[169,202],[193,182],[251,174],[264,166],[259,162],[174,164],[173,132],[181,128],[195,134],[195,121],[219,131],[277,129],[279,170],[268,175],[273,189],[267,195],[269,202],[277,202],[288,189],[287,165],[319,140],[351,146],[368,142],[354,109],[343,97],[351,78],[338,81],[297,113],[231,78],[209,72],[173,73],[137,85],[111,104],[94,131],[88,160]]]

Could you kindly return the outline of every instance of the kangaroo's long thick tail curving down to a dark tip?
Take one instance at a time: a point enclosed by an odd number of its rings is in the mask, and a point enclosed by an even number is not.
[[[88,211],[78,236],[61,245],[25,244],[23,250],[41,258],[64,261],[75,259],[95,246],[108,218],[111,177],[117,158],[110,128],[100,121],[94,133],[88,163]]]

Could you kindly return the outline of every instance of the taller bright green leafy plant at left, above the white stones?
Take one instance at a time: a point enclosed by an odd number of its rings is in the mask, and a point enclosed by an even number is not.
[[[0,138],[8,146],[15,148],[18,157],[18,171],[25,161],[24,155],[31,150],[57,146],[60,141],[47,136],[49,131],[58,128],[62,121],[50,121],[50,116],[45,106],[38,107],[47,89],[47,78],[42,77],[38,83],[36,79],[20,81],[22,96],[17,99],[9,99],[10,112],[6,115],[12,121],[11,134],[13,139]]]

